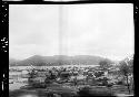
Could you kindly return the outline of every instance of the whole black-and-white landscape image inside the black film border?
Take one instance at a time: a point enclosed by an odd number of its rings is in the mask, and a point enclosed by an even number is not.
[[[9,97],[133,96],[132,3],[9,4]]]

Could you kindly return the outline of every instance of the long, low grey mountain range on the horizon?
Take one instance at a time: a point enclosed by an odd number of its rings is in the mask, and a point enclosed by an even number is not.
[[[22,61],[18,61],[14,58],[9,58],[10,66],[58,66],[58,65],[98,65],[100,61],[107,60],[112,63],[112,61],[108,58],[103,58],[100,56],[92,55],[76,55],[76,56],[67,56],[67,55],[54,55],[54,56],[41,56],[33,55]]]

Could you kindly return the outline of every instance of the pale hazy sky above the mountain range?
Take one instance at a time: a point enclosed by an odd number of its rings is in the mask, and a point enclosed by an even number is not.
[[[133,54],[133,4],[10,4],[9,56]]]

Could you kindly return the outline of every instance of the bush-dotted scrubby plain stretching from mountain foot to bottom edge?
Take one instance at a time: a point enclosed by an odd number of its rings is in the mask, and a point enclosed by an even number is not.
[[[121,82],[121,78],[119,77],[118,80],[118,74],[113,72],[116,71],[105,73],[98,67],[88,66],[39,67],[39,69],[33,68],[32,71],[31,68],[12,67],[9,73],[9,97],[17,97],[14,94],[19,91],[21,94],[39,94],[39,97],[80,97],[85,94],[129,95],[126,84],[119,85],[118,82]],[[132,89],[130,89],[130,95],[133,95]]]

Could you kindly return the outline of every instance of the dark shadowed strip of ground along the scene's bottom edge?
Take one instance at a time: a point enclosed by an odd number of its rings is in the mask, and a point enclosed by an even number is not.
[[[118,91],[119,90],[119,91]],[[111,88],[105,86],[83,86],[83,87],[63,87],[59,84],[50,84],[47,87],[31,87],[24,86],[17,90],[9,91],[9,97],[96,97],[96,96],[117,96],[117,97],[125,97],[125,96],[133,96],[131,93],[130,95],[122,95],[119,94],[127,94],[128,90],[126,87],[121,86],[113,86]]]

